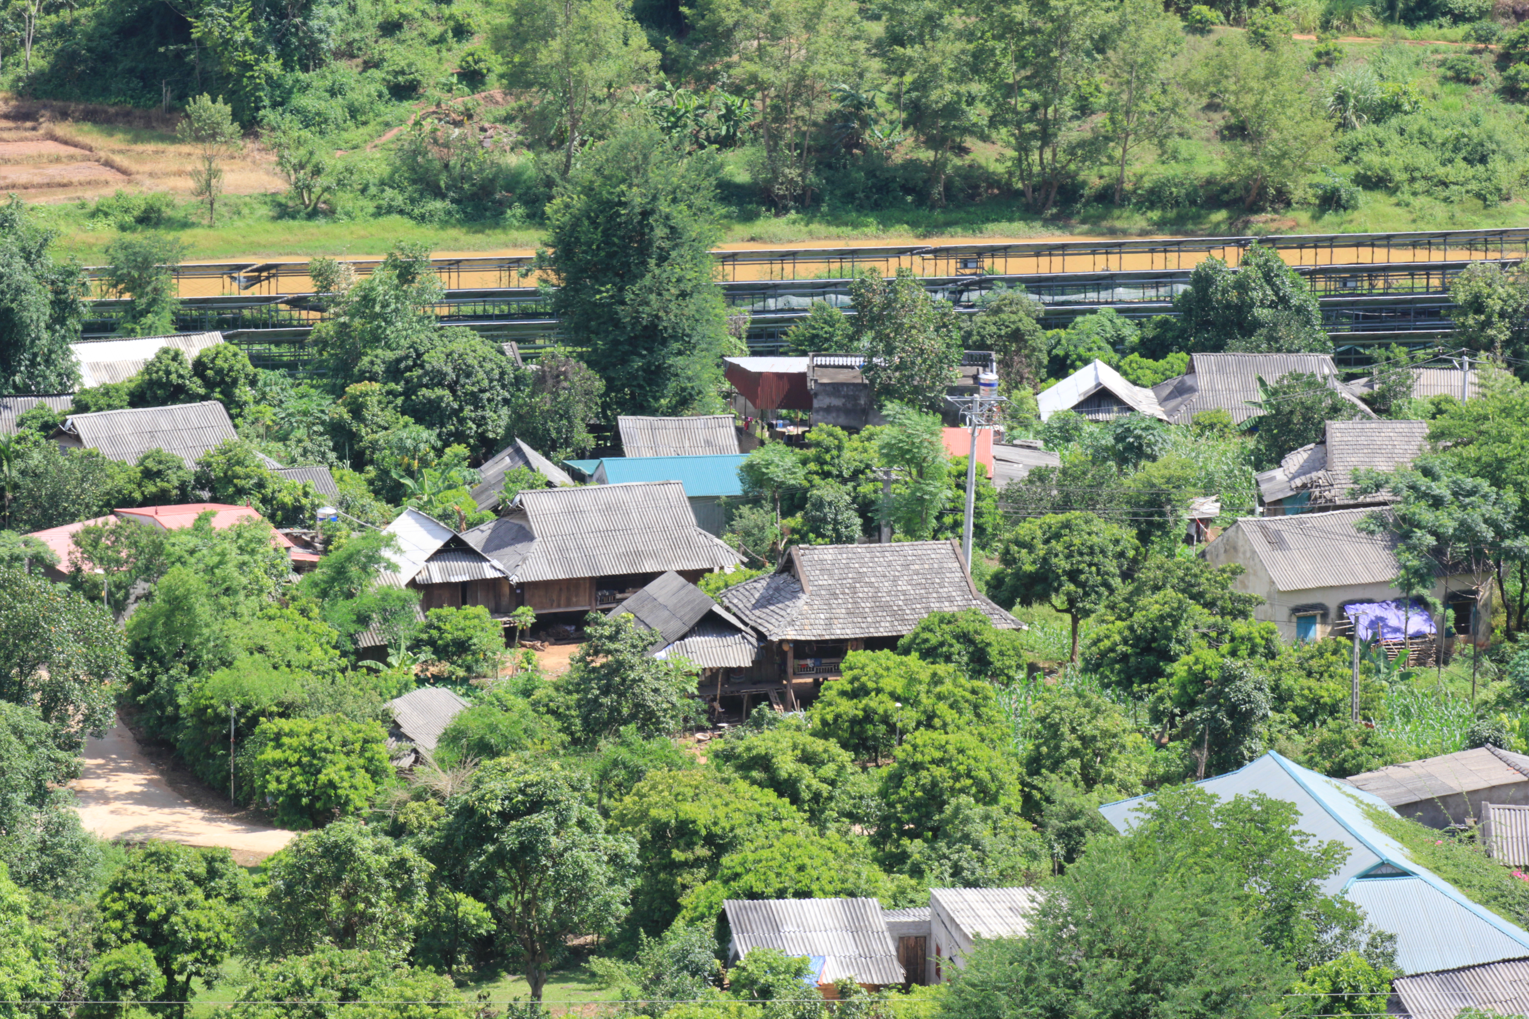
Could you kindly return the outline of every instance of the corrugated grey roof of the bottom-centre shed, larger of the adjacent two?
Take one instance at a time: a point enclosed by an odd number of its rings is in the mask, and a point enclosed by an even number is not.
[[[844,976],[879,987],[907,979],[875,898],[729,898],[722,909],[732,932],[732,958],[754,949],[821,958],[823,984]]]

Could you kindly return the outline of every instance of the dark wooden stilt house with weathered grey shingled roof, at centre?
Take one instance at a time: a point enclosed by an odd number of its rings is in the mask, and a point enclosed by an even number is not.
[[[885,545],[794,545],[774,573],[722,591],[722,605],[769,646],[748,674],[729,674],[717,697],[781,698],[797,710],[824,680],[841,674],[850,651],[896,648],[930,613],[979,610],[994,626],[1021,623],[983,596],[954,541]]]

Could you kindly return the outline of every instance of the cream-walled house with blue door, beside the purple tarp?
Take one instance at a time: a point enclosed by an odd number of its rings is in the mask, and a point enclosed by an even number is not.
[[[1335,629],[1350,632],[1350,605],[1381,605],[1404,594],[1394,585],[1401,571],[1394,536],[1364,535],[1355,529],[1373,512],[1341,509],[1243,516],[1208,544],[1203,555],[1217,567],[1243,567],[1232,587],[1263,599],[1254,608],[1254,619],[1274,623],[1290,642],[1321,640]],[[1471,576],[1443,576],[1420,593],[1446,605],[1449,617],[1428,619],[1428,611],[1419,607],[1417,617],[1407,620],[1410,637],[1443,629],[1448,643],[1453,636],[1469,632],[1477,597]],[[1368,614],[1382,611],[1368,610]]]

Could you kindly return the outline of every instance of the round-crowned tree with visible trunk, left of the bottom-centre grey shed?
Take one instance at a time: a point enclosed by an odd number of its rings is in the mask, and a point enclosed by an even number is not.
[[[610,930],[628,907],[636,845],[605,834],[583,793],[558,764],[492,761],[450,805],[436,843],[442,869],[520,947],[532,1001],[569,937]]]

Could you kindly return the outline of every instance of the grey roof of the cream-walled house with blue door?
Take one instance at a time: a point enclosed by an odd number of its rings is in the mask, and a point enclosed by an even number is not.
[[[1396,577],[1396,539],[1361,535],[1355,524],[1375,510],[1346,509],[1294,516],[1243,516],[1216,541],[1242,530],[1280,591],[1307,591],[1353,584],[1388,584]]]

